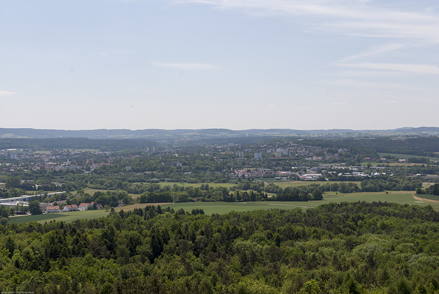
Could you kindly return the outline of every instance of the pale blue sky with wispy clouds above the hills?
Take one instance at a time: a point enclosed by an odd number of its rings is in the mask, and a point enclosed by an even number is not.
[[[437,0],[0,0],[0,127],[439,127]]]

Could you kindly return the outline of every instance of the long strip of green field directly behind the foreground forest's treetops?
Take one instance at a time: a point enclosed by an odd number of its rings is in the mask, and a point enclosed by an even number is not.
[[[437,199],[438,196],[433,195],[417,195],[418,197],[425,199]],[[331,202],[356,202],[356,201],[381,201],[381,202],[394,202],[398,204],[409,204],[418,206],[431,205],[435,210],[439,210],[439,203],[432,203],[428,201],[419,201],[413,198],[412,191],[389,191],[377,192],[377,193],[352,193],[352,194],[338,194],[324,193],[323,200],[320,201],[259,201],[259,202],[185,202],[175,204],[160,204],[163,208],[171,206],[174,210],[183,208],[188,212],[191,212],[194,208],[201,208],[206,215],[212,215],[213,213],[224,214],[230,211],[247,211],[256,209],[294,209],[294,208],[313,208],[322,204],[329,204]],[[134,208],[145,208],[149,205],[158,204],[133,204],[130,206],[124,206],[123,208],[116,208],[116,211],[121,209],[128,211]],[[108,215],[105,210],[86,210],[75,212],[61,212],[51,213],[49,215],[32,215],[32,216],[19,216],[11,217],[9,223],[24,223],[28,221],[38,221],[39,223],[45,223],[49,221],[66,221],[71,222],[76,219],[95,219],[97,217],[104,217]]]

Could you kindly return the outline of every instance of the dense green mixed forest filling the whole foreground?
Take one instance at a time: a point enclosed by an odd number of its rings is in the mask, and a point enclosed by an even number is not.
[[[364,202],[306,211],[147,206],[0,226],[0,291],[437,293],[439,213]]]

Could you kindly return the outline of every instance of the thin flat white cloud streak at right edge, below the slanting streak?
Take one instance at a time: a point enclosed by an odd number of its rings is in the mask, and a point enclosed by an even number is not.
[[[396,63],[372,63],[360,62],[355,64],[340,63],[336,66],[354,69],[375,69],[384,71],[401,71],[416,75],[439,75],[439,67],[436,64],[396,64]]]

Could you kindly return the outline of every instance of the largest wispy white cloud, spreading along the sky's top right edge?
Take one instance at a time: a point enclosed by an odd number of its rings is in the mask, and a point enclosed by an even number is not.
[[[439,14],[434,10],[401,10],[361,0],[175,0],[202,3],[248,14],[307,16],[309,30],[329,34],[376,38],[410,38],[439,42]],[[316,17],[316,18],[313,18]]]

